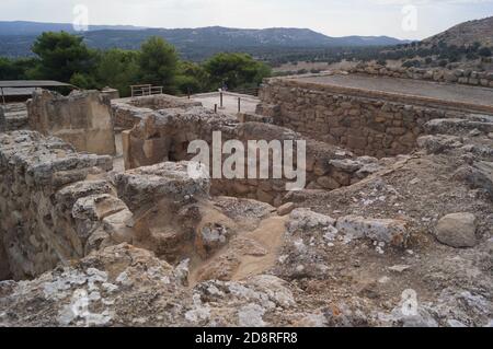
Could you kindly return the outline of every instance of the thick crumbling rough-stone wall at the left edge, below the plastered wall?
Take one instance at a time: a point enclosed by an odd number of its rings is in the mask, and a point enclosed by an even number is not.
[[[58,138],[1,133],[0,279],[33,278],[123,242],[131,213],[104,179],[110,170],[111,156],[77,153]]]

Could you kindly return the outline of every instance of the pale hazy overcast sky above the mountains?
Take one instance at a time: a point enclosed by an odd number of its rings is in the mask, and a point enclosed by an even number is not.
[[[0,21],[72,23],[77,4],[89,10],[89,24],[291,26],[413,39],[493,15],[493,0],[1,0]]]

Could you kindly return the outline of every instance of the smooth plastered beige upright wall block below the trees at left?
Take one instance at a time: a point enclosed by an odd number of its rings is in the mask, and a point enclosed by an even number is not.
[[[110,101],[98,91],[65,97],[43,90],[27,102],[30,128],[61,138],[78,151],[115,154]]]

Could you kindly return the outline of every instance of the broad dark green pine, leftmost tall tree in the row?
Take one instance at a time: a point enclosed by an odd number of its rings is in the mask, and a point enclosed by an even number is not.
[[[83,38],[66,32],[43,33],[33,45],[41,61],[31,70],[32,78],[69,82],[74,73],[89,74],[95,63],[95,54]]]

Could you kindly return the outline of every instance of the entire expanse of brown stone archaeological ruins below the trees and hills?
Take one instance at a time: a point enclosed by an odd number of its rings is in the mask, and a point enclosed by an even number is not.
[[[0,326],[491,326],[493,78],[452,74],[1,106]],[[217,131],[306,141],[305,189],[191,177]]]

